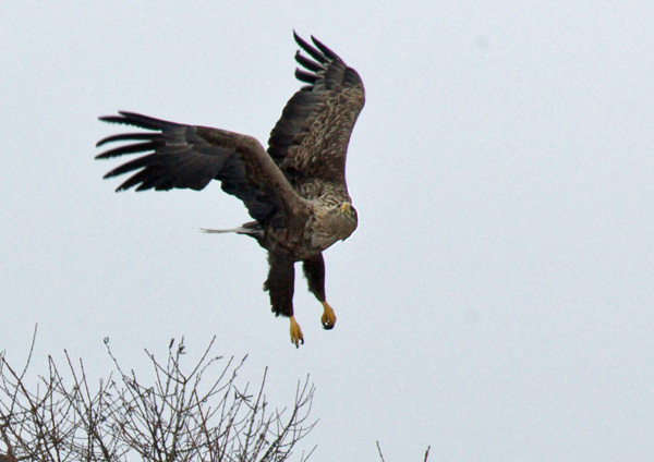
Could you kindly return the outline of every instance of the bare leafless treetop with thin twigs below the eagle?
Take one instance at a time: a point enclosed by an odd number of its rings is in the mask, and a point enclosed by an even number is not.
[[[270,410],[264,394],[267,369],[256,389],[238,386],[246,357],[210,356],[214,340],[189,372],[181,364],[183,339],[171,340],[165,363],[146,350],[154,367],[154,380],[146,384],[121,367],[105,339],[114,370],[97,388],[84,363],[75,364],[64,351],[65,374],[49,356],[48,374],[28,389],[34,339],[22,370],[0,354],[0,437],[7,447],[0,462],[290,460],[315,425],[308,421],[314,396],[308,377],[298,384],[290,409]]]

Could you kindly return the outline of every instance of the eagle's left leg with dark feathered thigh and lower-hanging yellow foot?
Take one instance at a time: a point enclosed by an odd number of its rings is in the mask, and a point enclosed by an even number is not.
[[[295,348],[304,343],[302,329],[293,316],[293,287],[295,283],[295,268],[293,260],[283,256],[269,254],[270,270],[264,283],[264,290],[270,294],[270,306],[277,316],[283,315],[291,319],[291,342]]]

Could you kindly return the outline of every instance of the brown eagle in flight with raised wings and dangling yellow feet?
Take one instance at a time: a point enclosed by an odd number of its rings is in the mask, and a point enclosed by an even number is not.
[[[304,343],[293,311],[295,263],[308,291],[323,305],[320,323],[332,329],[336,314],[325,295],[323,252],[356,229],[358,215],[346,183],[350,136],[365,104],[359,73],[315,37],[295,32],[295,77],[304,84],[287,102],[270,132],[268,149],[254,137],[119,111],[109,123],[145,131],[108,136],[97,147],[120,143],[96,159],[140,155],[104,178],[129,173],[116,190],[201,191],[211,180],[243,202],[253,221],[227,230],[256,240],[268,252],[264,290],[276,316],[290,318],[291,342]]]

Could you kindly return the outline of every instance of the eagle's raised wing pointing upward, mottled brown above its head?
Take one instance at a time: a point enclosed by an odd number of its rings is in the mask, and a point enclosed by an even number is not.
[[[295,53],[307,83],[288,101],[268,141],[268,154],[292,183],[319,178],[346,183],[350,134],[365,102],[361,77],[341,58],[312,36],[312,46],[293,33],[311,57]]]

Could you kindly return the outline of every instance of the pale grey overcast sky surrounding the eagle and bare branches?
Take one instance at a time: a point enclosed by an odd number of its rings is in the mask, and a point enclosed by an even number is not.
[[[557,5],[559,4],[559,5]],[[654,5],[11,2],[0,28],[0,349],[109,370],[147,348],[250,354],[272,404],[311,374],[312,460],[654,457]],[[263,143],[314,34],[361,74],[356,232],[326,252],[305,344],[219,184],[121,193],[95,143],[131,110]]]

